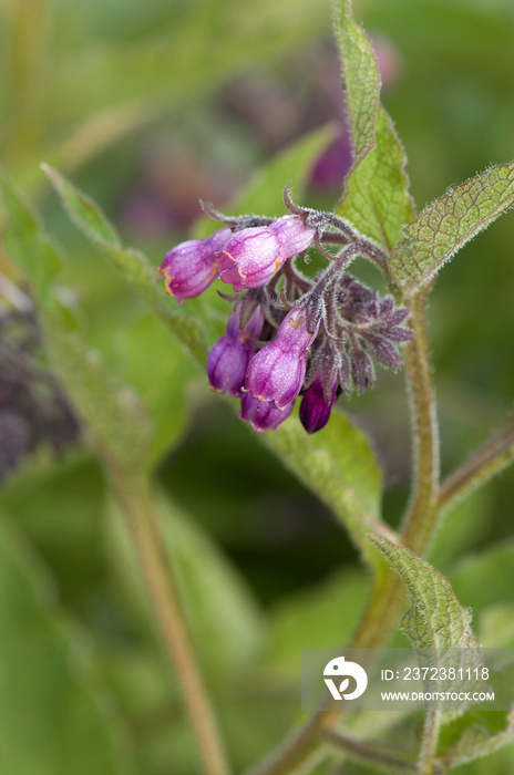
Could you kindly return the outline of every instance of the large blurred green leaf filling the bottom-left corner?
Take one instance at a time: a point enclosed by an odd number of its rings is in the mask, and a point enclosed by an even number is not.
[[[0,519],[0,747],[17,775],[121,775],[115,720],[43,569]],[[102,692],[104,689],[102,688]]]

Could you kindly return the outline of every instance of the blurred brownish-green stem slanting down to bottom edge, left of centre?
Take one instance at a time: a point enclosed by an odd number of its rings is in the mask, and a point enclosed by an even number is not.
[[[113,466],[110,466],[111,475]],[[158,535],[147,483],[127,482],[114,471],[114,485],[134,542],[146,591],[181,685],[206,775],[227,775],[213,710],[194,657],[172,568]]]

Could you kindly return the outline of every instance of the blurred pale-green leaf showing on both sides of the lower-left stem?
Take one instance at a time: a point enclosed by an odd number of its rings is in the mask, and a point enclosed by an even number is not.
[[[201,662],[213,681],[220,676],[224,681],[237,679],[261,647],[264,630],[259,608],[243,577],[208,535],[164,495],[156,498],[155,515],[177,575]],[[138,585],[133,547],[114,508],[111,516],[113,546],[110,556],[116,562],[130,604],[136,602],[141,613],[145,596]]]

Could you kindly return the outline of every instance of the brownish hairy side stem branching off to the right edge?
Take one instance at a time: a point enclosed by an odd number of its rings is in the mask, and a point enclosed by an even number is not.
[[[446,512],[514,462],[514,417],[442,483],[439,509]]]

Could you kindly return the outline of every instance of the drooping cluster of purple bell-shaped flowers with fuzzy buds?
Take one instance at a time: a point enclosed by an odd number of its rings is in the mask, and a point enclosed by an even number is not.
[[[275,430],[301,395],[301,423],[315,433],[341,392],[354,386],[361,394],[373,384],[372,358],[400,366],[398,347],[411,332],[407,309],[347,272],[358,255],[383,267],[381,249],[333,214],[297,207],[287,188],[285,202],[290,214],[273,220],[209,209],[225,227],[173,248],[158,271],[179,303],[216,278],[233,286],[236,293],[222,293],[235,306],[208,355],[207,376],[214,390],[240,399],[239,417],[256,431]],[[307,260],[312,246],[329,265],[311,280],[296,259]]]

